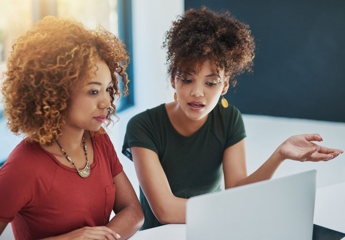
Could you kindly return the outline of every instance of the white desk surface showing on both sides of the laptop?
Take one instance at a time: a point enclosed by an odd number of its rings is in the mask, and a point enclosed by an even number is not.
[[[345,183],[316,189],[314,223],[345,233]],[[186,240],[186,225],[167,224],[137,232],[129,238],[147,239]]]

